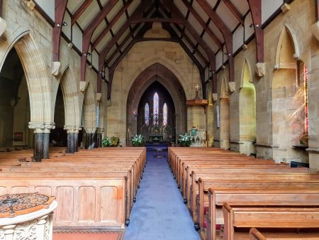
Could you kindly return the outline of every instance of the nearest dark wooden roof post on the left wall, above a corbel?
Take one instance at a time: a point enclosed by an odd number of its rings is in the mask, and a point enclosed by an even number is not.
[[[67,0],[55,0],[55,26],[52,29],[52,61],[60,60],[60,40],[62,31],[62,21],[65,17]]]

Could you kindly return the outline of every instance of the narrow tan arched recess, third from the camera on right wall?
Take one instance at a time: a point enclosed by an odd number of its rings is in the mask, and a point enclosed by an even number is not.
[[[225,76],[220,86],[220,148],[230,148],[230,99],[228,95],[228,84]]]

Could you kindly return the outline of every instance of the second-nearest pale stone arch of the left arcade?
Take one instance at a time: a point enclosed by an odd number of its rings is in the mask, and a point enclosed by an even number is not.
[[[65,104],[65,126],[80,126],[81,114],[77,96],[77,82],[69,66],[65,67],[62,71],[60,84]]]

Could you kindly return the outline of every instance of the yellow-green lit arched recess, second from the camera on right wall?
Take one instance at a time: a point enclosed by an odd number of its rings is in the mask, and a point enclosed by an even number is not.
[[[252,83],[250,64],[247,59],[242,65],[240,84],[240,152],[250,155],[255,153],[256,141],[256,90]]]

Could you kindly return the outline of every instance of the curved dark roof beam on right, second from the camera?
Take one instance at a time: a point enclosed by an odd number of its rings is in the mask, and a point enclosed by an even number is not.
[[[211,9],[211,6],[207,3],[206,0],[196,0],[196,1],[223,34],[226,50],[227,50],[227,55],[228,55],[229,81],[234,82],[235,81],[235,65],[234,65],[234,58],[233,58],[233,34],[227,28],[225,23],[220,19],[217,13],[213,11],[213,9]],[[215,69],[212,69],[212,70],[215,71]]]

